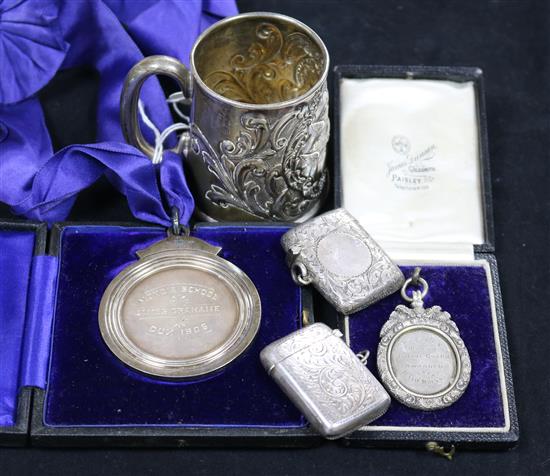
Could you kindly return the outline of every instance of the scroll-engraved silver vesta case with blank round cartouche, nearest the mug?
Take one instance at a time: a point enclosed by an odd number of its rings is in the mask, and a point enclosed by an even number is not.
[[[351,314],[397,291],[405,277],[353,216],[339,208],[296,226],[281,239],[292,277],[313,284]]]

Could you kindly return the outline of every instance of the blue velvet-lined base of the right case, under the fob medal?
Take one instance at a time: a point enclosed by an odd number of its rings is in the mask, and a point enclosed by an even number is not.
[[[441,306],[451,314],[470,354],[472,377],[464,395],[450,407],[437,411],[415,410],[393,400],[385,415],[371,427],[351,435],[348,443],[367,439],[424,444],[434,440],[476,448],[480,438],[494,446],[517,440],[496,262],[490,254],[477,258],[477,265],[422,266],[422,276],[430,285],[426,307]],[[413,266],[401,268],[406,276],[412,275]],[[340,318],[352,349],[371,351],[368,367],[374,375],[378,375],[376,349],[380,330],[398,304],[406,303],[396,293],[349,318]]]

